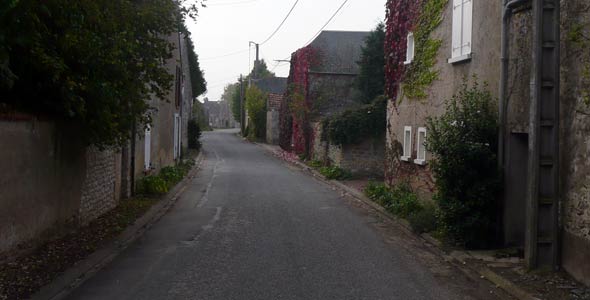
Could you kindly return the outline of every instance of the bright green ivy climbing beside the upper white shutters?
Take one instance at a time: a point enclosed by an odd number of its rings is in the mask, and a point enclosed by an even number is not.
[[[448,0],[426,0],[414,25],[416,53],[414,60],[406,69],[402,90],[410,99],[422,99],[427,96],[426,89],[438,79],[438,70],[433,69],[436,55],[442,40],[430,36],[442,22],[442,13]]]

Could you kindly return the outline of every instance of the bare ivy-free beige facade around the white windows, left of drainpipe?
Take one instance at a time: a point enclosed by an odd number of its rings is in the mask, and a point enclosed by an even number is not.
[[[418,128],[426,127],[428,117],[440,116],[445,111],[445,101],[459,90],[465,80],[472,82],[473,76],[477,76],[480,83],[488,84],[493,95],[497,95],[499,85],[501,3],[473,1],[473,54],[470,60],[452,64],[448,62],[452,53],[451,2],[444,9],[441,24],[431,34],[432,39],[442,41],[433,67],[439,72],[438,80],[426,90],[425,99],[409,99],[400,89],[398,99],[389,101],[387,108],[386,180],[389,184],[408,181],[426,198],[430,198],[434,191],[434,181],[428,163],[414,163]],[[412,128],[412,154],[410,160],[403,161],[400,158],[406,126]],[[427,151],[426,162],[430,160],[432,155]]]

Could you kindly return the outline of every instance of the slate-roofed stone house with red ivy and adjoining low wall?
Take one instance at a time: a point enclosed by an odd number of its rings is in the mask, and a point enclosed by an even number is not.
[[[362,105],[355,80],[361,47],[368,35],[323,31],[309,46],[293,53],[281,107],[281,147],[354,173],[383,173],[383,139],[358,145],[331,145],[321,139],[323,118]],[[289,110],[293,107],[305,113]]]

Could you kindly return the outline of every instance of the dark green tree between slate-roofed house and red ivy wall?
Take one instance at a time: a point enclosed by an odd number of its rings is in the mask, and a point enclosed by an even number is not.
[[[356,79],[356,86],[361,91],[362,101],[370,103],[379,95],[383,95],[385,88],[385,25],[379,23],[373,30],[361,49],[360,67]]]

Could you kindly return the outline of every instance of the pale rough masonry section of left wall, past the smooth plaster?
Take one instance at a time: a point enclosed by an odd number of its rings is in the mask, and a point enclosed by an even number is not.
[[[88,223],[115,208],[120,199],[117,162],[120,154],[94,147],[86,152],[86,178],[82,186],[79,219]],[[120,165],[120,164],[119,164]]]

